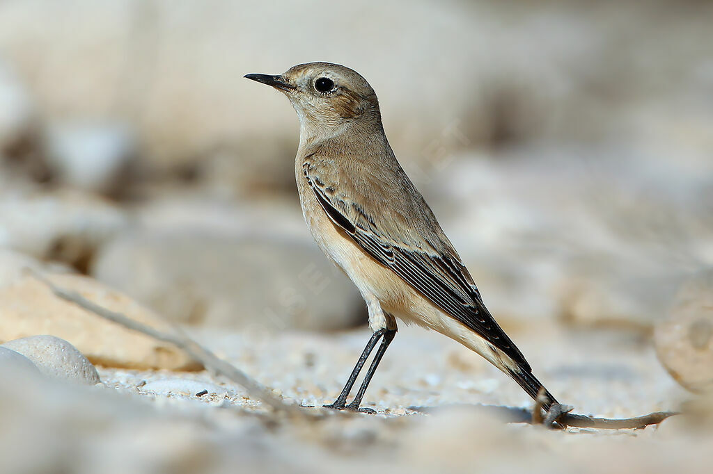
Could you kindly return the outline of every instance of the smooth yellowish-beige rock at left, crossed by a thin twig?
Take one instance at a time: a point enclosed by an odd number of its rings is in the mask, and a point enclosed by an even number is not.
[[[91,278],[79,275],[51,275],[48,278],[108,310],[169,330],[153,312]],[[170,344],[119,327],[61,300],[46,285],[29,276],[0,288],[0,301],[0,340],[3,341],[51,334],[66,339],[94,364],[137,369],[194,370],[201,367]]]

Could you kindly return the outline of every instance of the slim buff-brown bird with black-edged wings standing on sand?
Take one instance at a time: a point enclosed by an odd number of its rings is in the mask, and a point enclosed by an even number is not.
[[[366,79],[326,62],[245,78],[284,93],[297,112],[294,174],[304,220],[319,248],[359,289],[369,312],[369,342],[342,392],[325,406],[375,413],[361,401],[396,335],[397,320],[440,332],[480,354],[545,411],[558,404],[488,312],[463,260],[401,168]]]

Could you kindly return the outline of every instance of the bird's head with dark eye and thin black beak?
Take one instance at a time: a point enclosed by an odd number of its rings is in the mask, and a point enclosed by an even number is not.
[[[332,63],[306,63],[281,75],[248,74],[287,95],[302,130],[328,136],[354,122],[381,125],[379,102],[371,85],[356,71]],[[312,135],[312,134],[310,134]]]

